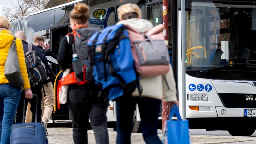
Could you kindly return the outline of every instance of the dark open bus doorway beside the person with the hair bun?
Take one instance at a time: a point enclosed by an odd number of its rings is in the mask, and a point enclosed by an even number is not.
[[[54,52],[54,54],[58,54],[59,50],[59,43],[60,40],[69,32],[72,32],[72,30],[69,28],[69,23],[62,24],[58,26],[50,27],[50,49]],[[53,72],[56,73],[56,75],[60,72],[61,68],[59,66],[56,66],[55,69],[53,69]],[[58,80],[62,77],[62,74],[57,77],[56,80],[56,86]],[[56,97],[57,90],[55,88],[55,97]],[[56,98],[55,103],[57,104]],[[68,104],[61,104],[60,109],[56,109],[55,113],[52,113],[52,122],[53,123],[67,123],[71,122],[70,116],[69,116],[69,110],[68,110]]]

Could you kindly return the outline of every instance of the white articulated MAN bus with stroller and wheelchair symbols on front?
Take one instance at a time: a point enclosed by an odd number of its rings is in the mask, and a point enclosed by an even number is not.
[[[168,6],[164,6],[167,3]],[[181,21],[185,1],[185,21]],[[13,33],[23,30],[28,43],[42,35],[57,55],[59,41],[68,32],[69,14],[77,2],[90,6],[89,26],[103,29],[118,22],[116,9],[135,3],[153,25],[165,24],[167,45],[177,86],[180,114],[190,129],[227,130],[232,136],[250,136],[256,125],[256,1],[252,0],[76,0],[12,20]],[[168,13],[168,21],[163,15]],[[182,26],[182,23],[184,27]],[[185,30],[185,44],[181,31]],[[185,53],[185,57],[182,57]],[[185,75],[182,75],[185,66]],[[60,68],[52,65],[58,73]],[[182,79],[185,77],[185,84]],[[185,87],[184,87],[185,86]],[[185,93],[184,93],[185,88]],[[186,102],[183,102],[185,97]],[[185,106],[183,105],[185,104]],[[185,107],[185,109],[183,109]],[[115,103],[107,111],[115,127]],[[159,113],[162,120],[162,112]],[[52,113],[51,122],[70,122],[66,104]],[[134,113],[134,129],[140,116]],[[159,128],[162,128],[161,122]]]

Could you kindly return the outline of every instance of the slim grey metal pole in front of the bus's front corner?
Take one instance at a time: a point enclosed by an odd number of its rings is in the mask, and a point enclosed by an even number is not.
[[[181,0],[181,61],[182,61],[182,119],[186,120],[186,13],[185,0]]]

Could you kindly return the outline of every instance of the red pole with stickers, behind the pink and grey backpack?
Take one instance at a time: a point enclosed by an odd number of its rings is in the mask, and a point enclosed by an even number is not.
[[[168,45],[168,0],[163,0],[163,24],[165,26],[165,29],[163,31],[163,34],[165,36],[166,45]],[[162,97],[162,129],[164,127],[165,120],[169,119],[169,113],[170,113],[170,107],[169,105],[164,101],[164,96]]]

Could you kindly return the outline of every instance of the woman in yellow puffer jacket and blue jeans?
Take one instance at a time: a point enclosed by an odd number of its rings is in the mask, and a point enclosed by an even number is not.
[[[0,16],[0,143],[10,143],[11,126],[15,112],[20,101],[22,88],[13,87],[4,74],[5,62],[14,35],[8,30],[11,27],[9,20]],[[30,89],[22,42],[19,38],[15,41],[21,75],[24,81],[25,97],[33,97]]]

